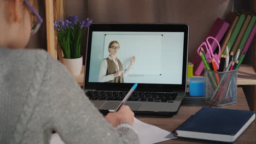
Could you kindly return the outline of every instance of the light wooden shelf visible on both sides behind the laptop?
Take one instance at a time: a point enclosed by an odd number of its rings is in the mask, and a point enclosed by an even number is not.
[[[81,74],[74,78],[80,86],[84,85],[84,65]],[[237,85],[256,85],[256,73],[252,66],[241,65],[237,75]]]

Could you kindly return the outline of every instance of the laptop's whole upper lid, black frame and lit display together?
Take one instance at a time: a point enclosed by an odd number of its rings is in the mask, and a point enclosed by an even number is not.
[[[184,90],[187,46],[185,24],[92,24],[84,88]]]

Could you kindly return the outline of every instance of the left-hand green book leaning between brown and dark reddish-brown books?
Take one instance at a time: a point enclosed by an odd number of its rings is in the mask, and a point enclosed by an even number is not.
[[[238,15],[240,15],[239,19],[238,19],[238,21],[236,23],[234,31],[232,32],[231,37],[229,39],[229,42],[227,44],[228,47],[229,47],[229,51],[231,50],[232,46],[234,45],[236,37],[237,37],[238,33],[240,32],[240,29],[241,29],[241,27],[243,25],[243,22],[245,21],[245,18],[246,18],[245,14],[238,14]],[[223,55],[226,55],[226,51],[223,52]]]

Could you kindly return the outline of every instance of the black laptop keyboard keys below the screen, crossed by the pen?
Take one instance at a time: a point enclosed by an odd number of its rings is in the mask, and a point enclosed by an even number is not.
[[[127,92],[88,91],[86,95],[90,100],[123,100]],[[133,92],[128,101],[154,101],[172,103],[177,93]]]

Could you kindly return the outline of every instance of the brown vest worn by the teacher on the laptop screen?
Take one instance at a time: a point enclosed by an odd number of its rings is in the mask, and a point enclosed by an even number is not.
[[[114,74],[118,71],[117,65],[111,61],[109,58],[105,58],[107,60],[108,68],[107,68],[107,74],[106,75],[111,75]],[[118,59],[118,65],[119,65],[119,70],[124,70],[123,64],[119,61]],[[121,76],[115,77],[114,80],[107,81],[107,82],[115,82],[115,83],[124,83],[124,76],[121,74]]]

